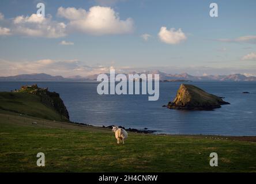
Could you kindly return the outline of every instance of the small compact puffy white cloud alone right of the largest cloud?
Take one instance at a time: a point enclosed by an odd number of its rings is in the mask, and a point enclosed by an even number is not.
[[[166,27],[161,27],[158,36],[162,42],[167,44],[179,44],[181,41],[187,39],[181,29],[175,31],[175,28],[168,30]]]

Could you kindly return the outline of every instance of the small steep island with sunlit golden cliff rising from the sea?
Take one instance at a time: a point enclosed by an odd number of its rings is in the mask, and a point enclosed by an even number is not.
[[[216,95],[206,93],[194,85],[182,84],[177,91],[173,102],[167,105],[170,109],[212,110],[229,104]]]

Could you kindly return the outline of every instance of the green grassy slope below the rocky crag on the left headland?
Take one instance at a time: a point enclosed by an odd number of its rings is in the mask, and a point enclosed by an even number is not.
[[[63,119],[54,109],[42,104],[40,97],[28,93],[0,92],[0,110],[48,120],[61,121]]]

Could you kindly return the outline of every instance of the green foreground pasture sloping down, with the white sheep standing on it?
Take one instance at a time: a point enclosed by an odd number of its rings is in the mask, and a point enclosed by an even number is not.
[[[0,114],[0,171],[256,171],[256,142],[218,138],[129,133],[116,145],[109,129]],[[46,167],[36,166],[37,152]],[[219,167],[209,166],[210,152]]]

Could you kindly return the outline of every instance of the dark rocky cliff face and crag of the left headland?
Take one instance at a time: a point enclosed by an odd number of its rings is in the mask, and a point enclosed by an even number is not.
[[[69,112],[66,109],[58,93],[50,92],[47,88],[39,88],[37,85],[22,86],[17,92],[34,94],[40,97],[42,104],[55,109],[59,114],[69,120]]]

